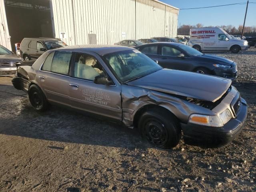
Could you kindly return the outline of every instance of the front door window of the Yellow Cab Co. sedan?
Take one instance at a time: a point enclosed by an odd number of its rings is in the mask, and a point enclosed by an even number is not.
[[[106,73],[96,58],[88,54],[76,54],[74,77],[94,81],[94,78],[99,75],[106,76]]]

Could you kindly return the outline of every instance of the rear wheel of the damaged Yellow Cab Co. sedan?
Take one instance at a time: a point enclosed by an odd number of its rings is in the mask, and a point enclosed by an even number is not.
[[[42,90],[37,85],[31,85],[28,89],[28,97],[31,105],[37,111],[45,111],[48,108],[48,102]]]

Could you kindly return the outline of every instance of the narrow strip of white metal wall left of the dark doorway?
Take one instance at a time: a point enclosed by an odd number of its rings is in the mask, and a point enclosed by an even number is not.
[[[12,50],[8,25],[6,20],[6,13],[4,7],[4,0],[0,0],[0,45]]]

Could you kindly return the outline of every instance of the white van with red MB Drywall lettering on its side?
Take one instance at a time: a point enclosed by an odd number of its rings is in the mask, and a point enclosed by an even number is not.
[[[222,28],[194,28],[190,29],[188,46],[198,51],[231,51],[238,53],[247,50],[246,40],[233,39]]]

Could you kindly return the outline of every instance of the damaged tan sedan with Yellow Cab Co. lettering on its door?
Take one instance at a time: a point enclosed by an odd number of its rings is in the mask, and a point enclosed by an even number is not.
[[[222,146],[242,130],[246,101],[231,80],[163,69],[122,46],[68,46],[49,50],[32,66],[17,65],[12,83],[43,111],[62,104],[108,118],[160,148],[185,142]]]

